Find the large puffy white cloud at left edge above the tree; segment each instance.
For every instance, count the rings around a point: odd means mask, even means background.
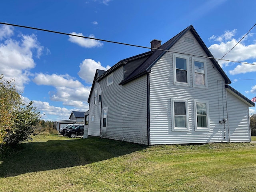
[[[44,47],[40,46],[34,34],[20,34],[19,40],[14,40],[10,38],[13,28],[2,27],[2,32],[4,33],[1,37],[6,40],[0,44],[0,74],[4,74],[7,79],[14,78],[17,88],[23,91],[24,84],[30,81],[29,70],[36,66],[33,51],[36,51],[36,56],[39,58]]]

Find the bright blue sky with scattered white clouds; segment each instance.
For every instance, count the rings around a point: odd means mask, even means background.
[[[213,56],[222,58],[256,23],[255,7],[255,0],[8,0],[0,2],[0,22],[145,47],[193,25]],[[87,111],[96,69],[147,51],[0,24],[0,74],[15,79],[44,120]],[[256,65],[256,26],[224,59]],[[230,86],[249,99],[256,96],[255,65],[218,63]]]

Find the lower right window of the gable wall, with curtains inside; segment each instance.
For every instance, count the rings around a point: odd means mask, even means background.
[[[208,131],[210,130],[209,110],[207,101],[194,101],[195,108],[195,130]]]

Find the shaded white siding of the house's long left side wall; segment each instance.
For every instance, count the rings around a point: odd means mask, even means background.
[[[123,67],[114,71],[114,83],[100,80],[102,108],[108,107],[107,128],[103,138],[148,144],[147,137],[147,77],[146,75],[123,86]]]

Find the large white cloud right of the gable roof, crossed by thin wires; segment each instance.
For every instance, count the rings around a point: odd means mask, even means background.
[[[231,50],[239,40],[234,39],[234,34],[236,30],[233,31],[226,31],[221,36],[212,36],[209,38],[209,40],[216,40],[216,41],[222,41],[220,44],[212,44],[209,47],[210,52],[214,55],[215,58],[222,58],[229,50]],[[232,51],[230,51],[224,59],[226,60],[233,60],[233,61],[245,61],[248,59],[255,59],[256,58],[256,42],[254,44],[246,45],[244,44],[244,41],[249,36],[252,36],[253,34],[248,34],[239,44],[237,44]],[[229,61],[223,61],[220,60],[218,63],[221,66],[228,65]],[[248,71],[251,70],[251,67],[249,65],[244,65],[246,68],[249,68]]]

